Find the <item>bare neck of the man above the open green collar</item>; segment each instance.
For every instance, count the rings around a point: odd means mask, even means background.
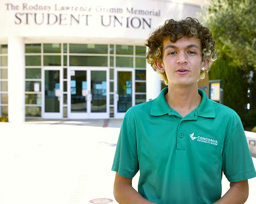
[[[168,86],[168,92],[165,95],[169,107],[177,111],[182,117],[195,110],[201,103],[201,99],[197,86],[191,88]]]

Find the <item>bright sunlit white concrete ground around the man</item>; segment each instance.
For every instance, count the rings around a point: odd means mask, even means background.
[[[0,203],[117,203],[111,167],[121,122],[0,123]],[[256,159],[253,161],[256,167]],[[136,175],[135,188],[137,183]],[[256,178],[249,184],[246,203],[252,204],[256,201]],[[223,179],[223,192],[226,189],[228,182]]]

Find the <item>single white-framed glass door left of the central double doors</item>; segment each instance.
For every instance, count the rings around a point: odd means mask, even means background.
[[[62,118],[62,68],[45,67],[43,75],[44,86],[42,87],[44,87],[44,92],[42,95],[44,99],[42,106],[42,118]]]

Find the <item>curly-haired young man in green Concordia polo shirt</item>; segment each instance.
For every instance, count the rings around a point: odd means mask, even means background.
[[[239,116],[198,89],[217,59],[197,19],[167,20],[146,42],[147,61],[168,85],[123,119],[112,170],[119,203],[244,203],[256,176]],[[138,192],[132,179],[140,171]],[[221,197],[222,172],[230,189]]]

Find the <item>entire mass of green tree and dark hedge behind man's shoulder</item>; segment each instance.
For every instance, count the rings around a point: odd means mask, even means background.
[[[202,18],[220,56],[209,79],[222,79],[224,104],[237,111],[245,125],[252,125],[256,121],[256,1],[211,0]],[[245,112],[247,103],[254,109],[249,114]]]

